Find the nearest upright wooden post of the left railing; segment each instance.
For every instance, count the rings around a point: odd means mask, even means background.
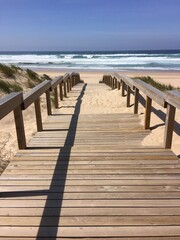
[[[21,106],[14,109],[14,120],[16,126],[17,140],[19,149],[26,148],[26,136],[24,131],[24,121]]]

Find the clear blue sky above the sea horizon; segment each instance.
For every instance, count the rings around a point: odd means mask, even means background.
[[[0,51],[180,49],[180,0],[0,0]]]

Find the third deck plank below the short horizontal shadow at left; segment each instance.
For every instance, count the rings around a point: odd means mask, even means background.
[[[179,226],[180,216],[61,216],[59,218],[58,226]],[[54,226],[56,217],[46,216],[43,219],[43,226]],[[27,217],[0,217],[0,226],[33,226],[38,227],[41,224],[41,217],[28,216]]]

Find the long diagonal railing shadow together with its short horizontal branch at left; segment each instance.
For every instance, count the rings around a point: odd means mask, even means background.
[[[78,118],[82,103],[82,97],[86,89],[84,85],[75,105],[74,114],[70,121],[70,127],[65,139],[64,146],[59,151],[57,162],[53,172],[50,187],[41,190],[24,190],[24,191],[11,191],[1,192],[0,197],[30,197],[30,196],[46,196],[44,210],[41,216],[41,221],[37,231],[36,239],[50,238],[56,239],[59,221],[61,217],[61,208],[63,203],[63,195],[65,191],[65,183],[68,172],[68,165],[70,160],[71,148],[74,145]],[[54,147],[53,147],[54,148]],[[36,200],[34,200],[36,201]],[[43,200],[42,200],[43,201]],[[52,217],[52,221],[48,221],[48,217]]]

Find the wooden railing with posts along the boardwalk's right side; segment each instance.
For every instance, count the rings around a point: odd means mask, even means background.
[[[164,133],[164,148],[171,148],[173,127],[175,121],[176,108],[180,109],[180,92],[172,90],[161,92],[157,88],[141,81],[140,79],[131,79],[117,73],[104,75],[103,83],[112,89],[122,90],[122,96],[127,98],[126,106],[130,107],[131,94],[134,95],[134,114],[138,113],[138,104],[140,102],[140,91],[146,96],[145,122],[144,128],[150,128],[152,101],[155,101],[163,108],[167,108]]]

